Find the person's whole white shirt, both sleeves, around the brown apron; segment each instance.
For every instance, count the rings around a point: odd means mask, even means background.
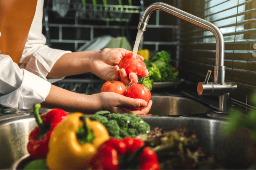
[[[4,107],[30,109],[45,100],[51,83],[63,78],[46,78],[54,63],[71,51],[45,45],[46,38],[42,34],[43,5],[44,0],[38,0],[20,63],[14,63],[8,55],[0,55],[0,104]]]

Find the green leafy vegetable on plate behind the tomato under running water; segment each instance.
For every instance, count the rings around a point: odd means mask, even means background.
[[[154,82],[176,82],[178,81],[178,71],[174,71],[170,64],[170,55],[166,51],[157,52],[150,61],[144,60],[149,75],[139,84],[144,84],[149,90],[152,90]]]

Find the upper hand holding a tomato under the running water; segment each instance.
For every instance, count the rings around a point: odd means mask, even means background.
[[[125,55],[131,52],[132,51],[128,51],[123,48],[103,49],[98,52],[96,58],[94,59],[94,61],[92,61],[92,64],[90,65],[90,70],[92,70],[92,72],[96,76],[106,81],[121,80],[126,85],[136,84],[138,83],[138,77],[134,72],[127,75],[124,68],[119,69],[118,67],[118,63],[120,62],[120,60]],[[141,61],[144,60],[142,56],[137,56],[141,59]],[[144,76],[142,77],[146,76],[148,76],[147,69],[144,71]]]

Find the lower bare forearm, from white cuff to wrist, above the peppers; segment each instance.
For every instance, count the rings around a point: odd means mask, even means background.
[[[54,85],[51,85],[50,92],[41,105],[48,109],[60,108],[68,112],[79,111],[84,114],[94,114],[101,109],[95,95],[78,94]]]

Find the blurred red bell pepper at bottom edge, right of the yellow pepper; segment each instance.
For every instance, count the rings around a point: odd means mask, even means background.
[[[98,148],[90,164],[93,170],[160,169],[155,152],[135,138],[109,139]]]

